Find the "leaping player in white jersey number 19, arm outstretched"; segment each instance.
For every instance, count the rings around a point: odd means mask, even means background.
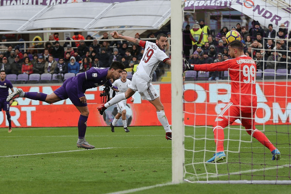
[[[137,67],[136,73],[133,74],[131,84],[127,91],[125,93],[116,95],[106,104],[98,107],[99,113],[103,115],[103,112],[108,107],[120,102],[121,100],[130,98],[136,91],[138,91],[143,100],[150,101],[150,103],[155,106],[158,120],[161,122],[166,131],[166,139],[172,140],[172,130],[170,129],[168,119],[164,112],[164,105],[161,103],[158,92],[155,90],[153,84],[151,83],[153,73],[161,61],[169,65],[171,64],[171,59],[163,51],[168,43],[167,36],[162,33],[158,34],[155,43],[153,43],[149,41],[135,39],[129,36],[122,36],[119,35],[116,31],[110,34],[115,39],[124,39],[130,42],[134,42],[137,45],[143,47],[144,54]]]

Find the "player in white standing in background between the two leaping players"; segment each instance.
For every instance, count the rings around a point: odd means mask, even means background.
[[[125,93],[126,90],[128,89],[128,86],[130,85],[131,81],[126,78],[127,77],[127,71],[123,70],[121,73],[121,78],[117,79],[113,82],[113,86],[118,87],[119,92],[116,92],[116,95]],[[112,98],[113,95],[113,90],[110,89],[110,99]],[[130,101],[134,101],[134,97],[130,99]],[[113,120],[113,122],[110,124],[111,131],[114,132],[114,127],[116,126],[116,123],[118,119],[121,117],[122,118],[122,124],[124,127],[125,132],[129,132],[127,128],[127,122],[126,122],[126,99],[121,100],[120,102],[117,103],[117,114]]]

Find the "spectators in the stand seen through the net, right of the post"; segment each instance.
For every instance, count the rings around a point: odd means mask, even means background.
[[[241,35],[244,53],[260,63],[260,69],[291,69],[291,31],[288,33],[284,24],[280,25],[278,32],[269,24],[264,30],[258,21],[252,22],[252,28],[241,27],[236,24],[230,30],[236,30]],[[230,31],[227,27],[218,30],[215,36],[210,34],[210,29],[200,19],[190,29],[187,25],[183,31],[183,51],[186,59],[191,64],[215,63],[229,58],[226,47],[226,34]],[[193,53],[190,50],[193,50]],[[196,76],[198,77],[198,73]],[[223,72],[210,72],[209,80],[223,79]]]

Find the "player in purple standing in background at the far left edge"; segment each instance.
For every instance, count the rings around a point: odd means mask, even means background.
[[[13,90],[13,86],[11,84],[11,82],[6,78],[6,73],[4,70],[0,71],[0,111],[3,109],[6,111],[6,115],[7,115],[7,120],[9,123],[9,129],[8,129],[8,133],[10,133],[12,131],[11,129],[11,116],[10,116],[10,112],[9,112],[9,101],[6,101],[5,98],[9,95],[9,88],[11,89],[12,92],[14,92]]]

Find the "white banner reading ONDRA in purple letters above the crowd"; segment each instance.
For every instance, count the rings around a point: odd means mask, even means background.
[[[290,27],[291,9],[284,4],[278,8],[264,0],[232,0],[230,7],[259,21],[261,26],[273,24],[276,28],[284,23],[285,27]]]

